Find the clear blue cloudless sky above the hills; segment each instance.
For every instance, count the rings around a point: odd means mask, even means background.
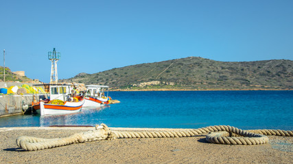
[[[0,1],[0,66],[49,82],[200,56],[217,61],[293,59],[293,1]]]

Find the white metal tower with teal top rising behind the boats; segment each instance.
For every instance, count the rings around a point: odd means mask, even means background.
[[[56,53],[54,48],[53,52],[48,52],[48,59],[51,61],[50,83],[58,83],[57,61],[60,59],[60,53]]]

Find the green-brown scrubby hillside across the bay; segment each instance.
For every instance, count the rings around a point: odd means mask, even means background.
[[[80,73],[60,81],[121,90],[292,90],[293,61],[224,62],[187,57]]]

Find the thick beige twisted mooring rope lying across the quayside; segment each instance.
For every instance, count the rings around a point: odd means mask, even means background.
[[[267,129],[243,131],[233,126],[208,126],[206,128],[197,128],[193,130],[174,131],[110,131],[108,126],[101,124],[101,126],[96,126],[95,131],[75,133],[74,135],[65,138],[42,139],[22,136],[16,139],[16,144],[24,150],[43,150],[58,146],[67,146],[72,143],[82,143],[102,139],[193,137],[203,133],[209,133],[206,140],[211,143],[233,145],[256,145],[268,143],[268,137],[266,135],[293,137],[293,131]]]

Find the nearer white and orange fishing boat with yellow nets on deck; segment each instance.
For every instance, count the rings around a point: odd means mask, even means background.
[[[47,97],[32,102],[32,107],[40,115],[54,115],[77,113],[84,105],[84,96],[76,96],[71,90],[71,85],[44,84],[48,92]],[[40,97],[40,96],[39,96]],[[34,97],[35,98],[35,97]]]

